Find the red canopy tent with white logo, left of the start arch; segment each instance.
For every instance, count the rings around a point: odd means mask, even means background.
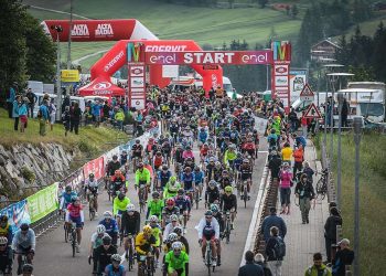
[[[86,86],[79,88],[81,96],[105,96],[105,97],[118,97],[125,96],[124,88],[106,81],[105,78],[97,77]]]

